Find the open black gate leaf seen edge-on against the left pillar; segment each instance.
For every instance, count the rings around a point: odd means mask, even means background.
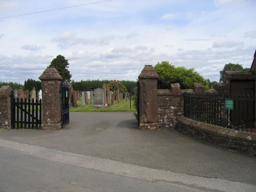
[[[61,82],[61,128],[69,124],[69,82]]]

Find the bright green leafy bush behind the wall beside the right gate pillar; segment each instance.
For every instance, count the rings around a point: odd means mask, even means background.
[[[181,89],[191,89],[195,82],[201,82],[206,89],[209,88],[209,81],[197,73],[194,68],[176,68],[169,61],[158,62],[154,68],[159,75],[158,89],[169,89],[170,83],[180,83]]]

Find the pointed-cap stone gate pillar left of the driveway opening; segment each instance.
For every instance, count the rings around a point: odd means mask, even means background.
[[[61,129],[60,86],[63,78],[54,67],[47,67],[39,77],[42,86],[41,130]]]

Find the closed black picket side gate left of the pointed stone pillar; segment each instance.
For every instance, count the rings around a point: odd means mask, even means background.
[[[14,97],[11,93],[11,128],[40,129],[42,120],[42,100]]]

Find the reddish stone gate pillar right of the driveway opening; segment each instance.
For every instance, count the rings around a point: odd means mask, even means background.
[[[139,129],[158,129],[157,79],[159,75],[152,66],[145,66],[139,75],[140,123]]]

